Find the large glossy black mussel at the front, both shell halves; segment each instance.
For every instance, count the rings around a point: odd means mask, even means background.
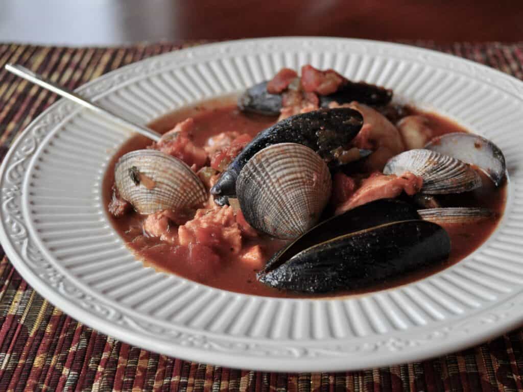
[[[439,263],[447,232],[419,219],[411,204],[373,201],[312,228],[276,253],[258,280],[303,293],[355,290]]]

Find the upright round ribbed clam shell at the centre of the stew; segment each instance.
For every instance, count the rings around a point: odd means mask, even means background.
[[[280,143],[256,153],[240,172],[236,194],[257,230],[292,239],[313,227],[331,197],[331,174],[309,147]]]

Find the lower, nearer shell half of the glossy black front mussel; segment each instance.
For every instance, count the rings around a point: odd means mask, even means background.
[[[302,293],[357,290],[430,268],[450,254],[450,237],[427,221],[372,227],[307,248],[258,279]]]

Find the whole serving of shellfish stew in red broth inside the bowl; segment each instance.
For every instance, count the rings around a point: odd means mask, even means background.
[[[266,296],[347,295],[458,262],[496,227],[492,141],[391,90],[284,68],[151,124],[109,165],[113,225],[146,264]]]

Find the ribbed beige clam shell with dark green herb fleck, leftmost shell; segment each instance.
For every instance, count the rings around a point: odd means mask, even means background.
[[[140,214],[193,207],[207,200],[206,188],[189,166],[154,149],[123,155],[115,167],[115,185]]]

